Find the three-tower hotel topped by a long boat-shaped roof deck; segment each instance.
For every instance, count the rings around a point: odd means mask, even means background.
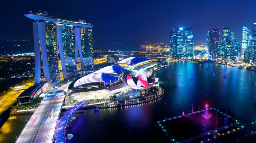
[[[60,80],[94,66],[92,24],[55,18],[46,11],[24,15],[35,20],[35,84],[46,81],[47,87],[55,87]]]

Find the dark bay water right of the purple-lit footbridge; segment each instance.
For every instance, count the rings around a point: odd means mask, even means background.
[[[70,122],[73,127],[66,130],[66,134],[73,133],[74,137],[67,142],[168,142],[156,123],[165,118],[164,103],[167,118],[171,118],[182,114],[183,100],[184,112],[191,112],[192,98],[194,111],[204,109],[208,102],[220,111],[227,109],[228,115],[232,113],[242,123],[256,121],[256,85],[252,85],[256,83],[256,73],[215,63],[167,64],[172,66],[155,73],[165,90],[163,97],[140,105],[102,109],[98,113],[93,109],[75,113],[76,119]]]

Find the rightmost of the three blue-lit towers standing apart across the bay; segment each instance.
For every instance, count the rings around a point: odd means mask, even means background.
[[[193,59],[194,58],[194,37],[192,28],[185,28],[185,46],[186,46],[186,58]]]

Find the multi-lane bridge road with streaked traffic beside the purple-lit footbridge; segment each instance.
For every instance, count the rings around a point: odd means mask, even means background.
[[[70,82],[71,83],[71,82]],[[17,143],[51,143],[53,142],[56,121],[65,99],[63,91],[68,90],[70,83],[57,89],[53,94],[47,94],[42,103],[33,113],[24,129],[21,131]]]

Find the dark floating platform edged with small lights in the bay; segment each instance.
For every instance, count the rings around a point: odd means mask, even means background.
[[[214,130],[214,122],[219,123],[218,130]],[[227,116],[229,126],[224,126],[226,114],[217,109],[210,108],[208,110],[196,111],[194,113],[184,114],[167,120],[158,121],[158,125],[162,128],[167,136],[173,142],[201,142],[214,141],[225,134],[232,134],[238,130],[243,130],[243,124]],[[203,126],[206,130],[203,130]],[[227,136],[227,135],[226,135]]]

